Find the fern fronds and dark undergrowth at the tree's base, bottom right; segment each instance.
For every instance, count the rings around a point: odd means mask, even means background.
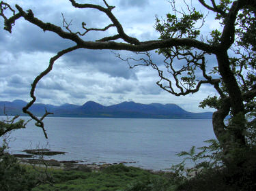
[[[180,152],[178,156],[186,156],[180,164],[173,165],[173,182],[176,190],[255,190],[256,179],[256,147],[233,147],[231,160],[223,153],[218,141],[205,141],[208,146],[195,146],[188,152]],[[235,158],[236,157],[236,158]],[[240,160],[237,160],[240,158]],[[185,169],[185,161],[192,160],[194,167]],[[241,162],[242,161],[242,162]],[[244,162],[246,161],[246,162]]]

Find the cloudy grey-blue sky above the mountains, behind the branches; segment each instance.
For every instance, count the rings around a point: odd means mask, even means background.
[[[44,22],[52,22],[62,26],[62,16],[68,22],[72,20],[73,31],[83,31],[81,22],[87,27],[105,27],[110,24],[109,18],[96,10],[79,10],[72,7],[68,0],[44,1],[6,1],[10,5],[18,3],[23,10],[33,10],[34,16]],[[102,0],[78,1],[103,5]],[[140,41],[158,39],[154,29],[156,16],[164,18],[171,12],[171,5],[165,0],[109,0],[115,5],[113,14],[121,22],[124,31],[137,37]],[[179,3],[182,1],[178,1]],[[197,0],[193,5],[208,14]],[[184,5],[182,5],[184,6]],[[179,7],[179,5],[177,5]],[[23,99],[30,101],[30,84],[46,67],[49,59],[64,48],[72,46],[72,42],[61,39],[54,33],[44,32],[29,22],[19,19],[12,33],[3,30],[3,19],[0,18],[0,101]],[[208,14],[203,33],[209,33],[220,26],[212,14]],[[100,37],[115,34],[115,29],[106,32],[90,32],[83,37],[94,41]],[[115,51],[114,51],[115,52]],[[132,52],[116,52],[124,58],[135,56]],[[162,57],[152,53],[154,62],[161,65]],[[216,62],[210,57],[208,63]],[[135,67],[128,64],[111,50],[76,50],[66,54],[55,62],[53,71],[46,75],[35,90],[37,103],[62,105],[72,103],[83,105],[87,101],[96,101],[102,105],[113,105],[123,101],[137,103],[175,103],[180,107],[194,112],[212,111],[201,109],[199,103],[216,95],[211,86],[202,86],[195,94],[175,97],[160,89],[156,82],[158,73],[151,67]]]

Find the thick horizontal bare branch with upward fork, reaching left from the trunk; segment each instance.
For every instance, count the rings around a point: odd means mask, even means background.
[[[70,0],[71,1],[71,0]],[[73,1],[72,1],[73,2]],[[103,7],[100,7],[98,5],[91,5],[91,4],[76,4],[77,7],[93,7],[97,8],[98,10],[104,9]],[[216,53],[219,51],[219,48],[216,46],[210,46],[208,44],[205,44],[201,41],[198,41],[196,39],[189,39],[189,38],[171,38],[171,39],[164,39],[164,40],[154,40],[154,41],[143,41],[139,42],[137,39],[134,40],[132,37],[126,37],[127,35],[124,35],[122,30],[118,31],[118,36],[115,35],[113,37],[106,37],[106,39],[100,39],[99,41],[83,41],[78,35],[75,33],[67,33],[61,29],[61,27],[56,26],[55,24],[51,23],[45,23],[42,22],[42,20],[39,20],[38,18],[35,18],[33,16],[33,12],[29,10],[29,12],[24,12],[23,9],[16,5],[17,10],[19,11],[19,17],[15,17],[16,19],[20,18],[20,16],[23,16],[25,20],[31,22],[32,24],[35,24],[36,26],[40,27],[43,31],[52,31],[53,33],[56,33],[63,39],[70,39],[71,41],[74,41],[76,44],[81,46],[81,48],[86,49],[109,49],[109,50],[130,50],[132,52],[145,52],[150,50],[155,50],[158,48],[169,48],[173,46],[190,46],[198,48],[199,50],[203,50],[205,52],[211,52]],[[107,14],[109,14],[109,10],[105,10]],[[111,12],[110,12],[111,13]],[[108,16],[112,16],[108,15]],[[12,22],[15,22],[14,18],[12,18]],[[117,20],[116,18],[112,18],[113,20]],[[118,27],[120,24],[113,23],[115,27]],[[11,29],[10,29],[11,30]],[[118,38],[124,39],[128,44],[126,43],[118,43],[114,41],[107,41],[107,40],[114,40]]]

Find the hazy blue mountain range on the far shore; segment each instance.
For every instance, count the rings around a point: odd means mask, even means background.
[[[8,116],[25,116],[22,108],[27,103],[22,100],[0,101],[0,115],[3,108]],[[133,101],[125,101],[116,105],[104,106],[94,101],[88,101],[83,105],[63,104],[60,106],[35,103],[29,109],[36,116],[42,116],[47,111],[53,112],[53,117],[76,118],[162,118],[162,119],[210,119],[211,112],[192,113],[175,104],[142,104]]]

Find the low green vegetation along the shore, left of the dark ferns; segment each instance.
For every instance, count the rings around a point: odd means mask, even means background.
[[[170,190],[168,173],[152,173],[116,164],[99,171],[64,171],[19,164],[10,154],[0,162],[0,190]]]

